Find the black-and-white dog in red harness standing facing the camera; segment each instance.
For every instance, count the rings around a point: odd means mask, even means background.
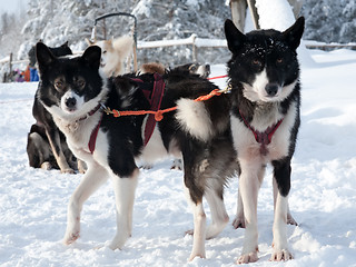
[[[274,168],[275,219],[270,260],[293,258],[287,244],[290,160],[300,123],[299,63],[296,49],[304,31],[299,18],[284,32],[241,33],[231,20],[225,34],[233,57],[228,61],[231,88],[231,129],[239,164],[235,227],[245,227],[238,264],[258,259],[257,196],[266,165]]]

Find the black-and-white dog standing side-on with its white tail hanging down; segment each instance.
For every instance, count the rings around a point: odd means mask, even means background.
[[[159,109],[177,109],[158,118],[161,120],[147,140],[146,126],[151,115],[119,115],[120,111],[151,109],[138,83],[152,80],[156,75],[107,79],[100,76],[100,58],[101,49],[97,46],[87,48],[80,57],[57,58],[46,44],[37,44],[41,78],[39,100],[66,135],[75,156],[88,165],[69,200],[63,243],[72,244],[79,238],[83,202],[111,178],[117,233],[109,247],[121,249],[132,233],[132,208],[139,176],[137,160],[174,155],[182,157],[184,188],[194,214],[194,244],[189,259],[205,257],[205,239],[217,236],[228,222],[222,194],[236,165],[227,116],[229,98],[221,95],[195,101],[218,88],[197,75],[167,72],[158,80],[166,85]],[[110,115],[113,109],[119,110],[119,117]],[[206,227],[202,197],[211,209],[209,227]]]

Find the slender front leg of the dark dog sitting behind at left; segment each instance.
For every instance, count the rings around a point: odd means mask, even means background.
[[[48,137],[49,144],[51,146],[53,156],[60,168],[60,171],[65,174],[75,174],[75,170],[70,168],[67,162],[66,156],[60,145],[60,137],[58,130],[46,128],[46,135]]]

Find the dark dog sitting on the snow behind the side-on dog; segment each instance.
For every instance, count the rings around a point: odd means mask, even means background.
[[[49,49],[57,57],[72,55],[68,41],[60,47]],[[36,58],[33,59],[33,65],[34,63]],[[31,126],[27,141],[27,155],[30,167],[46,170],[60,169],[60,171],[65,174],[75,174],[76,169],[78,169],[79,172],[85,172],[85,164],[77,161],[66,144],[66,137],[56,126],[52,116],[38,99],[38,93],[39,90],[37,89],[32,106],[32,115],[36,123]]]

